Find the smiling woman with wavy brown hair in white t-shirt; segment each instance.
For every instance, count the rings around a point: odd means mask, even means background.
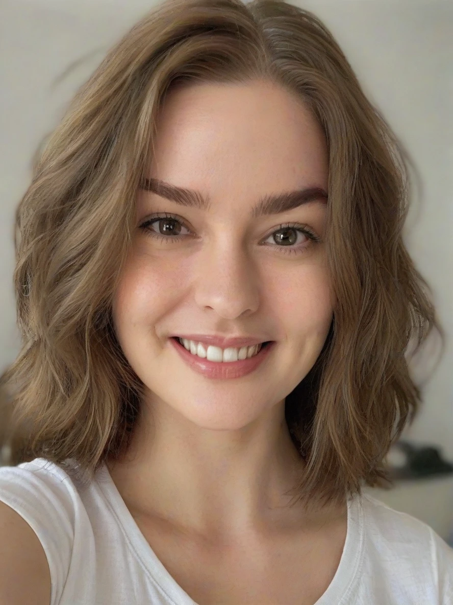
[[[419,405],[408,345],[442,332],[406,211],[315,16],[135,25],[18,209],[0,603],[451,603],[453,551],[362,493]]]

